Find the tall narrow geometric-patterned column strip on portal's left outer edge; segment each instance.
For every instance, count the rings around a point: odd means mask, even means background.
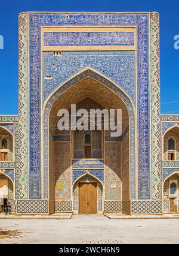
[[[18,198],[27,198],[27,91],[29,86],[27,79],[27,67],[28,67],[28,35],[27,35],[27,14],[20,14],[18,19],[18,113],[19,113],[19,191]]]

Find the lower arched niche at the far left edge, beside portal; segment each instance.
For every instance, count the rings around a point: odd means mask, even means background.
[[[7,201],[10,203],[9,200],[13,200],[13,198],[13,181],[4,173],[0,173],[0,212],[4,212],[5,204],[7,203]]]

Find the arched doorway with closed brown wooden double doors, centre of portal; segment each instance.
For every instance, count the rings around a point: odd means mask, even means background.
[[[103,212],[103,185],[95,177],[85,174],[73,184],[73,213]]]

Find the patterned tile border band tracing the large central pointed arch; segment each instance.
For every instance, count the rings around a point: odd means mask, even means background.
[[[48,199],[49,192],[49,123],[50,123],[50,112],[51,109],[57,101],[68,89],[72,88],[78,84],[78,82],[84,80],[85,78],[90,77],[91,79],[97,81],[101,86],[109,89],[109,91],[115,94],[119,99],[124,103],[126,110],[129,116],[129,176],[130,176],[130,186],[129,186],[129,196],[131,199],[136,198],[136,167],[137,167],[137,158],[135,158],[137,152],[137,117],[135,115],[135,107],[132,103],[131,98],[124,92],[122,88],[112,82],[110,79],[105,77],[103,74],[98,71],[92,70],[92,68],[85,68],[74,76],[70,77],[69,80],[62,83],[58,86],[57,89],[47,98],[44,103],[43,111],[42,111],[42,154],[41,154],[41,162],[42,162],[42,179],[44,183],[42,185],[42,194],[44,195],[44,199]]]

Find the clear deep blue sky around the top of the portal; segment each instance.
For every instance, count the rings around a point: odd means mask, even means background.
[[[161,29],[161,113],[179,114],[179,1],[31,0],[0,2],[0,115],[18,113],[18,13],[22,11],[158,11]]]

